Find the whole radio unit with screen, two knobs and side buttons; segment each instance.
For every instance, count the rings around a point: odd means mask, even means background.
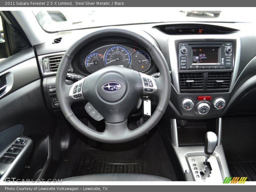
[[[180,42],[179,69],[232,69],[232,42]]]

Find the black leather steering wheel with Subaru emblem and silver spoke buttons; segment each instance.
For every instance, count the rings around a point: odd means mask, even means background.
[[[156,63],[160,76],[152,76],[138,71],[109,66],[102,68],[72,85],[66,84],[66,75],[75,54],[85,45],[102,37],[125,37],[138,42],[147,49]],[[153,87],[145,86],[151,81]],[[113,84],[111,84],[113,83]],[[111,90],[108,85],[116,86]],[[147,85],[147,84],[146,84]],[[81,94],[73,94],[81,87]],[[163,116],[171,95],[171,77],[167,62],[159,50],[156,41],[146,32],[134,32],[124,29],[104,29],[82,37],[63,55],[56,76],[56,94],[60,109],[68,122],[85,136],[106,143],[121,143],[134,140],[151,130]],[[135,130],[127,127],[127,118],[141,97],[155,95],[158,105],[152,116]],[[89,101],[104,117],[105,131],[97,132],[83,124],[73,113],[71,104],[77,101]]]

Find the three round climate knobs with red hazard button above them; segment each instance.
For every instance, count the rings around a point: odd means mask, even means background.
[[[194,110],[191,110],[196,105]],[[222,97],[212,99],[212,96],[197,96],[197,100],[194,101],[192,98],[185,98],[181,102],[181,108],[190,113],[196,113],[199,115],[206,115],[210,110],[220,110],[226,105],[226,100]],[[192,115],[192,114],[191,114]]]

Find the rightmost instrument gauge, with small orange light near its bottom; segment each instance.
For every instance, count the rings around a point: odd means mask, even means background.
[[[146,71],[150,66],[150,57],[144,51],[136,51],[132,53],[131,68],[133,70],[142,72]]]

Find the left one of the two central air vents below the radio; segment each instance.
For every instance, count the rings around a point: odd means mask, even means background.
[[[180,89],[204,89],[204,73],[180,73]]]

